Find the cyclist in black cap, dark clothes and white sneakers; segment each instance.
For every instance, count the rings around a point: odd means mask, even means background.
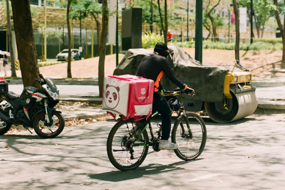
[[[159,82],[163,73],[167,78],[179,88],[183,89],[186,94],[194,96],[194,90],[189,88],[186,84],[182,83],[173,73],[168,61],[167,56],[172,51],[166,44],[159,42],[154,47],[154,52],[145,56],[137,69],[137,76],[151,79],[154,81],[154,94],[153,94],[153,107],[152,112],[158,112],[162,117],[162,137],[159,142],[158,148],[160,150],[174,150],[178,148],[178,144],[168,141],[171,129],[171,115],[172,110],[167,103],[167,100],[159,93],[164,91],[161,83]]]

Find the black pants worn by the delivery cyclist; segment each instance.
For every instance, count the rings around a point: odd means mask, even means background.
[[[162,140],[167,140],[170,136],[172,110],[167,100],[159,93],[153,94],[152,113],[158,112],[162,118]]]

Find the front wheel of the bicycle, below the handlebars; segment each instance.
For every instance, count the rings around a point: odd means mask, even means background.
[[[172,129],[171,140],[179,146],[174,150],[175,154],[182,160],[190,161],[196,159],[204,150],[207,131],[203,119],[195,113],[187,113],[189,126],[183,115],[180,115]]]

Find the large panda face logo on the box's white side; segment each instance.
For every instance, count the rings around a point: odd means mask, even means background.
[[[120,96],[119,96],[120,88],[117,86],[110,86],[106,85],[106,92],[105,92],[105,104],[110,109],[114,109],[117,107]]]

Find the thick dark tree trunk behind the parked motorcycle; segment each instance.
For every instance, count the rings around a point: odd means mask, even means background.
[[[34,42],[30,1],[11,0],[16,43],[24,87],[40,88],[37,50]]]

